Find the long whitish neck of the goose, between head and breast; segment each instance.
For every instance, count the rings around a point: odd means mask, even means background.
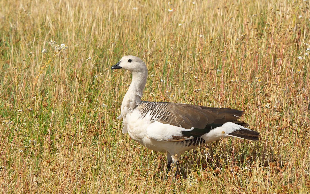
[[[122,115],[124,117],[141,102],[147,76],[146,67],[141,72],[132,72],[132,82],[122,102]]]

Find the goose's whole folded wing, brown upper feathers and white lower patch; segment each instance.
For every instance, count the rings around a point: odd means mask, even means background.
[[[147,137],[159,141],[183,141],[197,138],[211,129],[238,121],[243,111],[167,102],[144,102],[136,108],[143,119],[153,121],[147,128]]]

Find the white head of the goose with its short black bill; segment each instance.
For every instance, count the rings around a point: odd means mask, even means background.
[[[123,56],[115,65],[111,67],[111,70],[114,69],[125,69],[131,73],[140,73],[147,72],[145,63],[136,56]]]

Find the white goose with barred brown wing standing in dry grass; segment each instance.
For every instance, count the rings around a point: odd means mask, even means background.
[[[231,108],[215,108],[170,102],[141,101],[148,70],[136,56],[123,56],[111,70],[124,69],[132,82],[123,98],[122,133],[153,151],[167,154],[168,170],[177,166],[184,151],[223,138],[259,140],[259,132],[246,128],[238,119],[244,113]]]

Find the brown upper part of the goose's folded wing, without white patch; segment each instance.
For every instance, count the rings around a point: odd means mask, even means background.
[[[234,121],[234,123],[247,126],[247,124],[237,121],[243,111],[231,108],[214,108],[168,102],[145,102],[139,105],[137,109],[143,114],[142,117],[149,113],[152,116],[151,119],[184,129],[191,129],[192,127],[205,129],[208,124],[222,125]]]

